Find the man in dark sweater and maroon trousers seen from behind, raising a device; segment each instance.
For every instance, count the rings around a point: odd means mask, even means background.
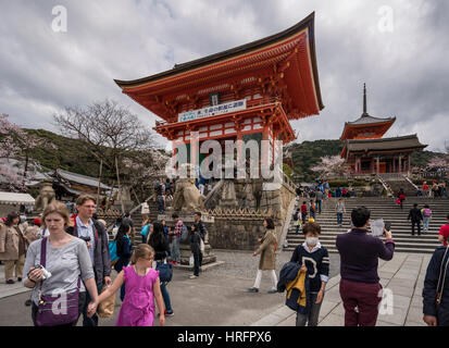
[[[370,210],[353,209],[353,228],[337,236],[340,253],[340,296],[345,308],[345,326],[375,326],[382,285],[377,274],[378,258],[389,261],[395,252],[391,232],[384,228],[385,243],[370,236]]]

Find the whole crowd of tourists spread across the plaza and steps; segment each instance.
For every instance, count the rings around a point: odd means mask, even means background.
[[[167,197],[173,199],[174,190],[174,182],[154,185],[159,213],[165,212]],[[271,217],[264,219],[263,234],[253,252],[254,257],[260,256],[259,268],[248,291],[260,291],[263,272],[267,271],[272,279],[267,293],[286,291],[286,304],[297,312],[297,325],[315,326],[329,276],[329,256],[320,243],[321,226],[315,217],[322,212],[322,201],[332,192],[326,182],[319,182],[312,188],[299,188],[297,194],[301,201],[292,219],[296,233],[302,231],[304,243],[295,248],[277,278],[275,226]],[[339,197],[335,206],[339,226],[346,213],[342,197],[347,195],[347,190],[341,190],[336,196]],[[198,278],[208,231],[200,212],[189,217],[191,224],[183,222],[175,212],[171,216],[173,225],[167,226],[164,220],[150,219],[150,207],[154,207],[151,200],[141,203],[141,244],[136,247],[132,240],[135,223],[130,213],[117,219],[112,228],[113,240],[110,241],[105,222],[96,216],[95,199],[88,195],[79,196],[74,207],[53,201],[45,208],[40,219],[30,223],[18,213],[10,213],[2,221],[0,260],[4,262],[5,282],[13,284],[16,278],[33,289],[27,304],[32,307],[35,325],[73,326],[83,316],[84,326],[97,326],[98,313],[104,313],[107,303],[119,290],[122,306],[116,325],[153,325],[157,316],[154,301],[161,325],[164,325],[166,316],[174,315],[169,291],[173,265],[190,264],[194,269],[190,278]],[[424,222],[424,231],[428,231],[432,213],[428,204],[422,209],[414,204],[409,212],[412,234],[416,226],[420,235],[421,221]],[[391,260],[395,252],[391,231],[384,229],[385,241],[372,236],[367,228],[370,217],[369,209],[353,209],[351,229],[339,234],[336,240],[340,254],[339,291],[345,308],[345,325],[348,326],[375,325],[382,300],[378,259]],[[439,233],[444,246],[435,251],[424,282],[423,320],[428,325],[449,325],[448,238],[449,215]],[[189,246],[189,253],[183,253],[183,258],[182,245]],[[116,273],[113,282],[112,270]],[[55,294],[61,291],[71,306],[65,314],[55,315],[49,309],[60,300]]]

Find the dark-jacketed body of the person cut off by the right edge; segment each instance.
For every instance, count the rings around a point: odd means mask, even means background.
[[[448,247],[439,247],[435,250],[431,262],[428,262],[425,274],[423,288],[423,320],[428,326],[449,326],[449,252],[447,252],[447,250]],[[439,278],[440,282],[438,287]],[[436,308],[437,293],[441,293],[438,311]]]

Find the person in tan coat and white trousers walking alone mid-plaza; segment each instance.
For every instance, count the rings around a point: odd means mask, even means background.
[[[254,285],[248,288],[250,293],[259,293],[260,282],[262,279],[262,271],[270,271],[273,287],[267,293],[277,293],[277,276],[276,276],[276,233],[274,229],[274,222],[271,217],[263,221],[263,226],[266,228],[263,238],[259,239],[261,246],[253,252],[253,256],[260,256],[259,270],[255,276]]]

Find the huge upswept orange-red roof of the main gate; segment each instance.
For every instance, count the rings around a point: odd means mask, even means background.
[[[314,12],[278,34],[238,46],[219,53],[175,64],[172,70],[151,76],[114,82],[123,92],[138,103],[162,116],[164,96],[199,89],[234,76],[250,77],[253,72],[274,64],[286,63],[285,80],[289,86],[294,104],[302,116],[317,114],[324,108],[316,64],[314,40]],[[301,69],[298,62],[303,65]],[[308,72],[310,71],[310,73]],[[300,99],[302,98],[302,99]],[[304,100],[307,100],[304,104]],[[301,104],[302,101],[302,104]],[[297,117],[295,117],[297,119]]]

